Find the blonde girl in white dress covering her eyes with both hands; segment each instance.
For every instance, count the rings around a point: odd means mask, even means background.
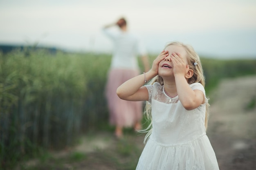
[[[117,95],[151,104],[146,113],[152,121],[136,170],[219,170],[206,135],[203,70],[191,46],[167,44],[150,71],[119,86]]]

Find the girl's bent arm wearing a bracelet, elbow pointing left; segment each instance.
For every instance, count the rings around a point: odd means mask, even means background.
[[[168,51],[162,51],[157,58],[153,61],[152,68],[144,74],[138,75],[124,82],[121,86],[117,88],[117,95],[124,100],[129,101],[146,101],[148,100],[148,90],[143,85],[146,80],[149,81],[156,75],[158,75],[158,65],[159,62],[164,60],[168,55]]]

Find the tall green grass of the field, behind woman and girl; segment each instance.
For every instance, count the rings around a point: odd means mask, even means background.
[[[81,132],[107,124],[110,60],[43,50],[0,54],[0,169],[71,146]],[[207,91],[224,77],[256,74],[256,60],[203,58],[202,65]]]

